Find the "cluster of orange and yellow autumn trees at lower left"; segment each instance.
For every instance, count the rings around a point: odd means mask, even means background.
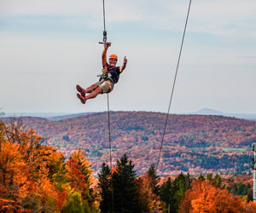
[[[94,212],[98,204],[84,152],[65,162],[61,152],[41,141],[35,130],[1,124],[0,212],[65,212],[74,195],[83,212]]]

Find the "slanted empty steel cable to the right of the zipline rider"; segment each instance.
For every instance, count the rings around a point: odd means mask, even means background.
[[[165,124],[164,132],[163,132],[163,135],[162,135],[162,138],[161,138],[160,152],[159,152],[159,155],[158,155],[158,158],[157,158],[157,164],[156,164],[156,167],[155,167],[155,171],[156,172],[157,172],[158,165],[159,165],[159,162],[160,162],[160,154],[162,152],[162,147],[163,147],[163,143],[164,143],[164,140],[165,140],[166,126],[167,126],[167,122],[168,122],[168,118],[169,118],[169,113],[170,113],[170,109],[171,109],[171,105],[172,105],[172,96],[173,96],[173,92],[174,92],[174,89],[175,89],[175,83],[176,83],[176,79],[177,79],[177,71],[178,71],[179,61],[180,61],[182,50],[183,50],[183,42],[184,42],[184,37],[185,37],[185,33],[186,33],[186,29],[187,29],[187,24],[188,24],[188,20],[189,20],[190,6],[191,6],[191,0],[189,0],[189,9],[188,9],[188,13],[187,13],[185,27],[184,27],[184,30],[183,30],[183,39],[182,39],[182,43],[181,43],[180,50],[179,50],[175,77],[174,77],[174,81],[173,81],[173,84],[172,84],[172,94],[171,94],[171,98],[170,98],[170,102],[169,102],[168,112],[167,112],[167,115],[166,115],[166,124]]]

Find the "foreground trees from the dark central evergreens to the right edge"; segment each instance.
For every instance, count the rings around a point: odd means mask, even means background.
[[[191,178],[182,173],[160,183],[154,165],[139,177],[133,168],[126,155],[113,170],[102,164],[98,185],[102,212],[256,212],[248,194],[252,193],[250,184],[234,183],[228,191],[218,174]],[[237,186],[243,190],[235,193]]]

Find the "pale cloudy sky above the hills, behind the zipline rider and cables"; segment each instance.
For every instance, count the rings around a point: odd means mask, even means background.
[[[108,54],[127,68],[110,108],[166,112],[189,0],[106,0]],[[256,1],[192,0],[171,112],[256,113]],[[101,72],[102,0],[0,0],[4,112],[98,112],[75,85]]]

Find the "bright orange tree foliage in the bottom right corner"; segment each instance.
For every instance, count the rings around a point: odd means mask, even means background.
[[[185,193],[178,212],[256,212],[256,204],[253,202],[247,204],[243,199],[234,196],[227,190],[212,186],[212,183],[208,180],[195,180],[191,189]]]

